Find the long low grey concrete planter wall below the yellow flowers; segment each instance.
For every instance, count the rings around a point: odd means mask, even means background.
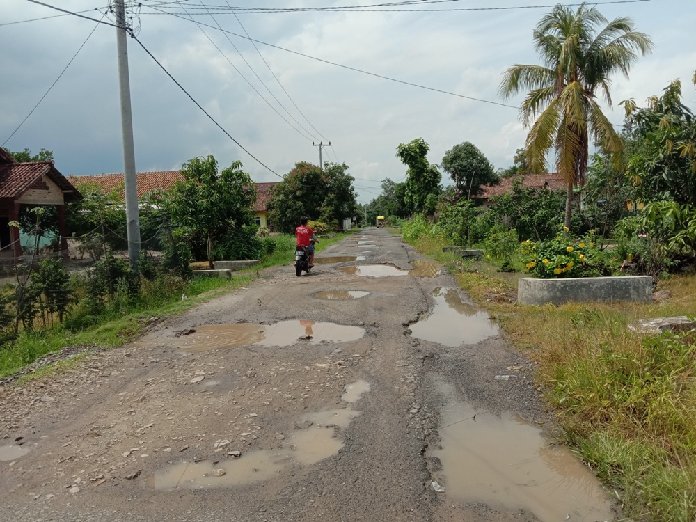
[[[517,302],[530,305],[553,303],[560,305],[571,301],[652,301],[650,276],[578,277],[567,279],[537,279],[523,277],[517,284]]]

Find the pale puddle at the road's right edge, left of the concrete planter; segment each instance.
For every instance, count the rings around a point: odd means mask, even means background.
[[[498,335],[498,325],[489,319],[488,313],[463,303],[457,290],[437,288],[431,295],[435,306],[430,315],[409,326],[413,337],[456,347]]]

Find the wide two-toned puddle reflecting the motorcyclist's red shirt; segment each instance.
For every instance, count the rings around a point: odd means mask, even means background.
[[[255,323],[206,324],[193,333],[175,339],[177,348],[191,353],[239,346],[292,346],[299,340],[316,345],[319,342],[358,340],[365,330],[358,326],[315,321],[280,321],[264,326]]]

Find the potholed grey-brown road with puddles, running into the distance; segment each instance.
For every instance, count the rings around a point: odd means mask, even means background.
[[[540,438],[534,363],[451,276],[409,274],[422,256],[384,229],[332,256],[0,388],[0,520],[609,519]]]

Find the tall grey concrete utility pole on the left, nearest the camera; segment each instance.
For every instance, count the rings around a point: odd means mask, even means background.
[[[135,177],[135,150],[133,145],[133,117],[130,104],[128,76],[128,44],[126,41],[126,13],[123,0],[114,0],[116,14],[116,53],[118,54],[118,85],[121,98],[121,134],[123,136],[123,180],[125,182],[128,259],[131,267],[138,268],[140,258],[140,219],[138,217],[138,186]]]

